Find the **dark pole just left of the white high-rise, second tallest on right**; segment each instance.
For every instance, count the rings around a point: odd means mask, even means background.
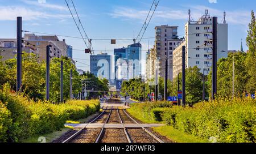
[[[185,91],[185,46],[182,46],[182,105],[185,107],[186,103],[186,91]]]

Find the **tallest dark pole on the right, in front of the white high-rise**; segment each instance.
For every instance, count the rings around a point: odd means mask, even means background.
[[[213,17],[213,57],[212,57],[212,100],[217,95],[217,32],[218,18]]]

